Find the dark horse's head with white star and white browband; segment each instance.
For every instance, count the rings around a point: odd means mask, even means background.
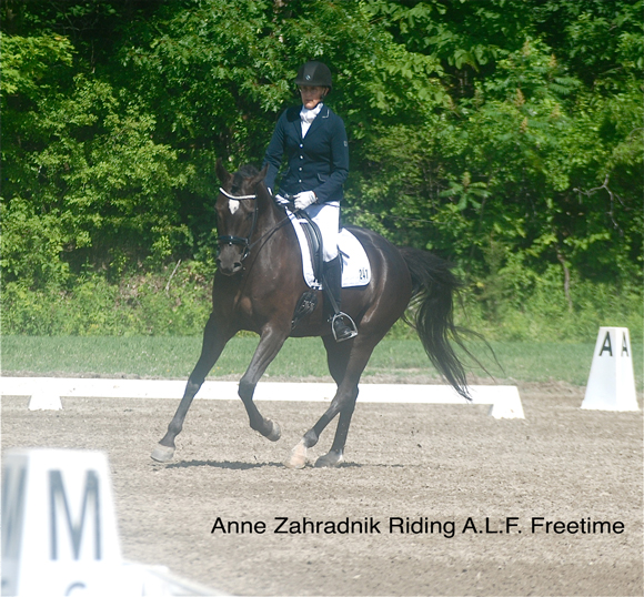
[[[220,159],[217,161],[217,175],[221,182],[215,204],[219,227],[217,264],[224,275],[240,272],[249,254],[258,222],[255,188],[264,180],[266,169],[259,172],[252,165],[244,165],[231,174]]]

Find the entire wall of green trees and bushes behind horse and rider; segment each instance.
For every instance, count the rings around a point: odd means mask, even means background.
[[[192,330],[209,282],[184,316],[153,281],[212,267],[215,159],[259,164],[320,59],[350,139],[345,222],[454,261],[493,336],[637,326],[642,7],[3,0],[3,325]]]

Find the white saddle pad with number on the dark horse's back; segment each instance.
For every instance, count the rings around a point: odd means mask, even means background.
[[[293,230],[300,242],[304,281],[311,289],[321,290],[322,284],[313,274],[311,250],[309,249],[305,232],[302,230],[300,220],[289,210],[286,210],[286,213],[293,223]],[[338,249],[342,255],[342,287],[366,286],[371,282],[371,265],[366,251],[364,251],[360,241],[346,229],[342,229],[338,237]]]

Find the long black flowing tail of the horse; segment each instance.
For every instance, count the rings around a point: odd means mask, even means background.
[[[413,293],[410,306],[415,307],[412,321],[403,320],[419,334],[427,356],[454,389],[472,399],[463,363],[452,347],[455,342],[467,355],[460,332],[454,325],[453,297],[462,283],[450,271],[451,264],[426,251],[400,249],[412,275]],[[471,356],[471,355],[470,355]]]

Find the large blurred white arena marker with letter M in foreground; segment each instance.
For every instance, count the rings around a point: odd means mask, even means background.
[[[8,451],[2,595],[135,595],[122,568],[107,456]]]

